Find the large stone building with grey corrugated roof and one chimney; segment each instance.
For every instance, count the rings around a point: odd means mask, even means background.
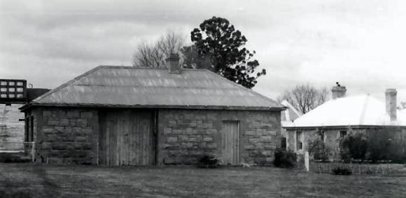
[[[93,165],[266,165],[279,146],[278,102],[209,70],[99,66],[22,107],[36,160]]]

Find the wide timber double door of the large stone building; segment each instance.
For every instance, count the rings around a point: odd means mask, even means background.
[[[155,135],[153,112],[105,112],[100,119],[99,163],[153,165]]]

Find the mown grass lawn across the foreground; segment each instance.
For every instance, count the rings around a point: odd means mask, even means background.
[[[0,163],[0,197],[406,197],[406,173]]]

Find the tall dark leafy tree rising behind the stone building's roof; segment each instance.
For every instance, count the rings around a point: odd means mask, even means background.
[[[251,89],[257,83],[256,79],[266,74],[265,69],[255,74],[255,69],[260,65],[253,59],[255,51],[244,47],[246,37],[225,18],[204,20],[199,28],[191,32],[191,40],[197,55],[202,60],[210,60],[208,69],[232,82]]]

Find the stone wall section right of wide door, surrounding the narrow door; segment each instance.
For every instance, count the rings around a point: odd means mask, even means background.
[[[160,109],[158,164],[196,164],[204,154],[221,160],[223,121],[239,121],[239,162],[268,165],[280,144],[280,112]]]

